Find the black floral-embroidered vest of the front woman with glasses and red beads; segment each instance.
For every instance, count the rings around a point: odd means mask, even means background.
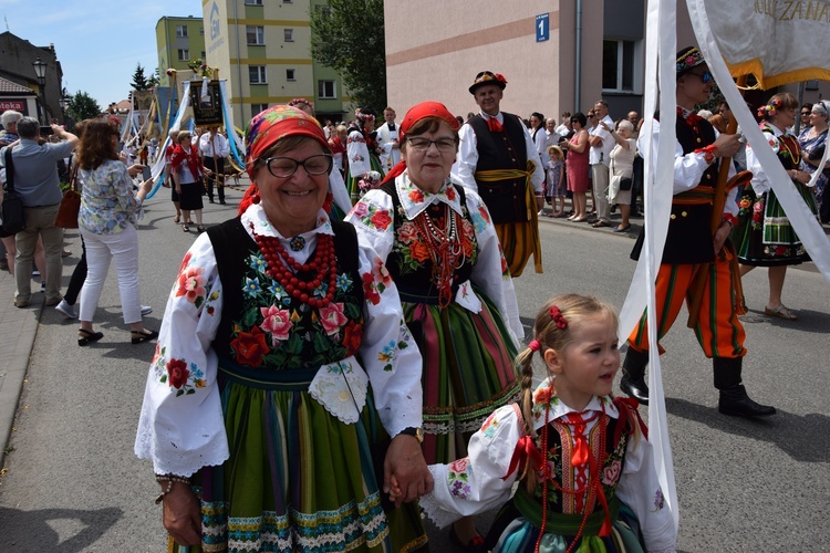
[[[357,234],[332,221],[338,264],[336,292],[326,307],[312,309],[288,294],[264,271],[264,258],[239,218],[208,229],[222,283],[222,313],[214,351],[221,366],[258,371],[314,369],[354,355],[363,337],[363,284]],[[324,295],[322,288],[318,295]],[[262,310],[279,310],[281,325],[268,324]],[[344,323],[329,327],[326,310],[342,311]],[[326,322],[329,319],[326,319]]]

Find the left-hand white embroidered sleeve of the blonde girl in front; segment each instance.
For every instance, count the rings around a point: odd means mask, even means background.
[[[501,407],[473,435],[468,457],[449,465],[430,465],[435,486],[419,499],[426,515],[444,528],[507,501],[519,474],[518,470],[510,472],[510,461],[522,434],[518,407]]]

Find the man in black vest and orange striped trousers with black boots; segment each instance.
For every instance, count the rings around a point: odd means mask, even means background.
[[[726,198],[720,226],[714,237],[709,230],[719,158],[732,157],[740,147],[740,142],[738,135],[717,135],[706,119],[695,114],[695,105],[708,100],[715,84],[703,54],[692,46],[681,50],[676,70],[674,197],[655,291],[658,338],[671,328],[684,300],[691,307],[696,276],[705,271],[702,278],[706,282],[695,334],[706,357],[712,358],[715,387],[720,396],[718,410],[737,417],[775,415],[774,407],[759,405],[749,398],[740,378],[741,362],[746,355],[746,333],[738,315],[746,311],[743,307],[735,249],[728,241],[737,213],[735,189]],[[666,124],[674,121],[673,115],[663,117]],[[655,121],[653,136],[640,137],[640,152],[647,152],[645,140],[649,139],[654,142],[656,152],[658,135],[660,125]],[[642,243],[641,232],[632,258],[639,257]],[[649,403],[644,377],[647,362],[649,336],[644,313],[629,336],[629,353],[620,382],[625,394],[644,405]]]

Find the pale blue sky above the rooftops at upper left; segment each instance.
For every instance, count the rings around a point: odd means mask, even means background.
[[[127,98],[136,64],[153,75],[158,20],[201,18],[201,0],[0,0],[0,32],[35,46],[54,43],[63,86],[86,92],[104,108]]]

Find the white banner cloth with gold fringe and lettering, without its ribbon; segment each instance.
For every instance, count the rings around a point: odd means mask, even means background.
[[[689,12],[693,3],[707,14],[733,76],[753,74],[765,90],[811,79],[830,81],[830,1],[696,0],[688,2]],[[699,23],[692,21],[696,35]],[[703,45],[699,35],[697,40]]]

